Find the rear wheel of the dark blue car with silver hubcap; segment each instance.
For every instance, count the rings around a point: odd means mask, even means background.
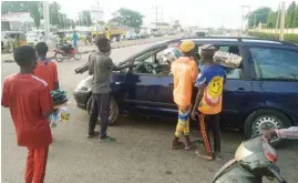
[[[260,135],[266,130],[271,129],[286,129],[291,126],[290,120],[281,112],[276,110],[258,110],[254,111],[245,121],[245,135],[251,138]],[[281,142],[280,139],[273,139],[271,144],[274,146]]]

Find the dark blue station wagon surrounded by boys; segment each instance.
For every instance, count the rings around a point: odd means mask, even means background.
[[[137,67],[114,72],[111,77],[113,91],[110,124],[114,124],[123,111],[162,118],[177,116],[169,65],[160,62],[158,57],[169,44],[178,44],[183,40],[160,42],[120,63],[136,63]],[[214,44],[219,50],[243,58],[242,65],[227,74],[220,121],[223,125],[243,128],[246,136],[268,129],[298,125],[297,45],[246,38],[192,40],[196,47]],[[199,54],[197,57],[199,59]],[[86,67],[81,69],[85,70]],[[91,85],[92,75],[89,75],[74,90],[78,106],[86,111],[92,108]]]

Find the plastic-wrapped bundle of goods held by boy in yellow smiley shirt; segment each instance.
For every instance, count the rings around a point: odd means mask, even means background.
[[[224,52],[224,51],[216,51],[213,59],[217,64],[220,64],[227,68],[239,68],[243,60],[240,55]]]

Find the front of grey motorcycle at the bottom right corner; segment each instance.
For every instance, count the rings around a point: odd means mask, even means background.
[[[287,183],[275,164],[277,153],[263,136],[244,141],[235,153],[215,175],[213,183],[261,183],[263,176]]]

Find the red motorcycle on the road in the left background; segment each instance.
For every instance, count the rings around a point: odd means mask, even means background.
[[[81,53],[78,52],[71,44],[63,42],[54,50],[54,58],[58,62],[62,62],[64,59],[81,59]]]

